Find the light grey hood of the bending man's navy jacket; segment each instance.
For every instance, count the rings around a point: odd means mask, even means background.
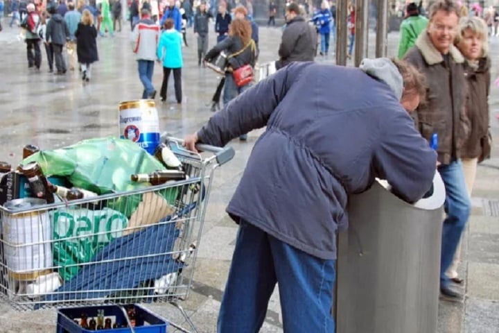
[[[402,98],[403,79],[399,69],[388,58],[364,59],[359,66],[366,74],[386,83],[399,101]]]

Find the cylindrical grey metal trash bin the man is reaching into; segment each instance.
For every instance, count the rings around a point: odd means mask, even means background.
[[[338,240],[338,333],[437,331],[444,183],[414,205],[375,182],[349,198]]]

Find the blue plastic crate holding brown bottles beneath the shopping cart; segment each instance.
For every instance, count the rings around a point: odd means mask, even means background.
[[[125,309],[128,309],[131,305],[125,305]],[[153,314],[152,312],[140,307],[139,305],[133,305],[135,307],[135,327],[134,330],[137,333],[166,333],[166,328],[168,327],[168,321],[163,318]],[[57,333],[94,333],[94,332],[116,332],[116,333],[128,333],[132,332],[130,328],[113,328],[111,330],[87,330],[80,327],[80,325],[74,322],[75,318],[81,317],[81,314],[85,313],[89,318],[97,317],[97,310],[103,309],[104,316],[114,316],[118,323],[127,323],[123,311],[116,305],[99,305],[92,307],[68,307],[64,309],[58,309],[58,324]],[[145,324],[145,325],[144,325]]]

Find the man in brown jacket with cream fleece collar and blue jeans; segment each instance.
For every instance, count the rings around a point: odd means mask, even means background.
[[[462,146],[468,133],[465,113],[468,90],[464,58],[453,45],[459,8],[452,0],[439,0],[430,8],[428,28],[419,35],[405,59],[416,66],[428,84],[428,101],[420,105],[415,118],[421,135],[438,135],[439,173],[446,188],[444,227],[441,243],[440,291],[457,300],[461,295],[446,275],[471,210],[462,167]]]

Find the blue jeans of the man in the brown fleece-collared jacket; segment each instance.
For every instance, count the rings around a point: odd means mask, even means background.
[[[438,168],[446,189],[445,211],[447,214],[442,229],[440,287],[447,287],[447,268],[453,261],[461,234],[468,221],[471,203],[464,182],[464,171],[460,160],[441,165]]]

